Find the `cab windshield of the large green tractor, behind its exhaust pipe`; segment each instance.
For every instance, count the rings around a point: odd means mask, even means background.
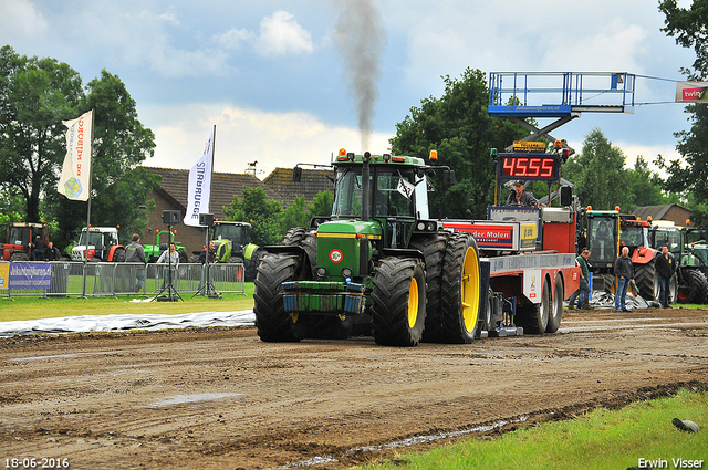
[[[414,217],[415,176],[412,168],[372,167],[373,217]],[[337,170],[336,198],[333,216],[361,217],[362,168]]]

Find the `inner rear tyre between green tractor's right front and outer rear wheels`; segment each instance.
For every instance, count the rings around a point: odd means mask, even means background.
[[[414,237],[410,248],[419,250],[425,258],[425,278],[427,286],[427,304],[423,342],[442,342],[442,315],[440,313],[440,282],[442,260],[449,232],[439,231],[434,234]]]

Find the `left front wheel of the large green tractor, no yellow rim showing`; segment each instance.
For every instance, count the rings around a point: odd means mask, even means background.
[[[258,268],[253,292],[253,313],[261,341],[296,342],[302,337],[295,328],[298,314],[285,312],[283,286],[302,272],[302,260],[293,254],[267,254]]]

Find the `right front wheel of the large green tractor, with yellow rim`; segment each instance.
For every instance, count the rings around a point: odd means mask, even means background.
[[[425,326],[425,270],[413,258],[384,258],[372,292],[374,340],[383,346],[416,346]]]

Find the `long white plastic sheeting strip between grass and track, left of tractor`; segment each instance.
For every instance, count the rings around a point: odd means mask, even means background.
[[[252,310],[200,312],[181,315],[125,314],[82,315],[18,322],[0,322],[0,337],[34,334],[124,332],[128,330],[187,328],[190,326],[238,326],[256,324]]]

